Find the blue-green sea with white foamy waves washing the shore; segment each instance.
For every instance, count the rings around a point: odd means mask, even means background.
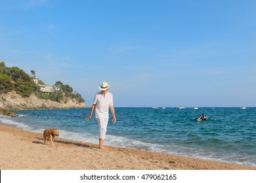
[[[105,145],[163,152],[256,166],[256,108],[240,107],[116,107]],[[0,116],[3,124],[37,133],[56,128],[60,136],[98,144],[98,125],[91,108],[67,110],[15,110],[13,118]],[[204,114],[208,120],[198,121]]]

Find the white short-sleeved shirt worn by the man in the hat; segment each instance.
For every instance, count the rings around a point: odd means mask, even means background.
[[[101,92],[96,93],[95,99],[93,100],[93,104],[95,105],[96,118],[109,118],[109,108],[110,106],[114,106],[112,93],[107,92],[105,96],[102,95]]]

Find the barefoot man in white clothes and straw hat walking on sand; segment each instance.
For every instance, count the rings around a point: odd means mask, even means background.
[[[113,95],[112,93],[108,92],[108,88],[110,85],[108,82],[102,82],[101,86],[98,86],[98,89],[101,92],[96,93],[95,99],[93,100],[93,106],[91,108],[91,114],[85,120],[91,120],[93,116],[93,111],[95,110],[96,120],[98,122],[98,129],[99,129],[99,145],[98,148],[104,148],[104,139],[106,137],[106,129],[108,125],[108,111],[109,108],[113,115],[113,123],[116,124],[116,114],[113,105]]]

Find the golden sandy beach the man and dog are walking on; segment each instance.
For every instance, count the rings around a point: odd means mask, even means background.
[[[255,170],[256,167],[186,158],[172,154],[106,146],[56,137],[43,144],[43,134],[0,125],[1,170]]]

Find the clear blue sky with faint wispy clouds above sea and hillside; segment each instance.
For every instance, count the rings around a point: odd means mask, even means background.
[[[255,107],[256,1],[6,0],[0,60],[91,105]]]

